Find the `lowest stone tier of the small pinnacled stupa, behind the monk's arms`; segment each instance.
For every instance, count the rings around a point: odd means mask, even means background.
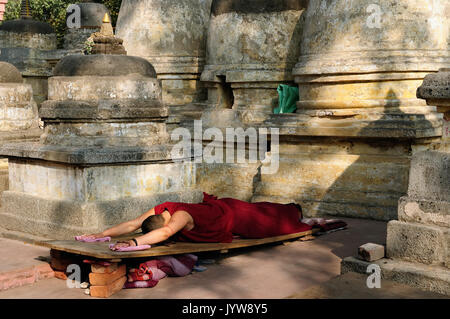
[[[167,201],[197,203],[202,199],[201,192],[192,190],[82,203],[6,191],[1,199],[0,224],[7,230],[65,240],[103,231]]]

